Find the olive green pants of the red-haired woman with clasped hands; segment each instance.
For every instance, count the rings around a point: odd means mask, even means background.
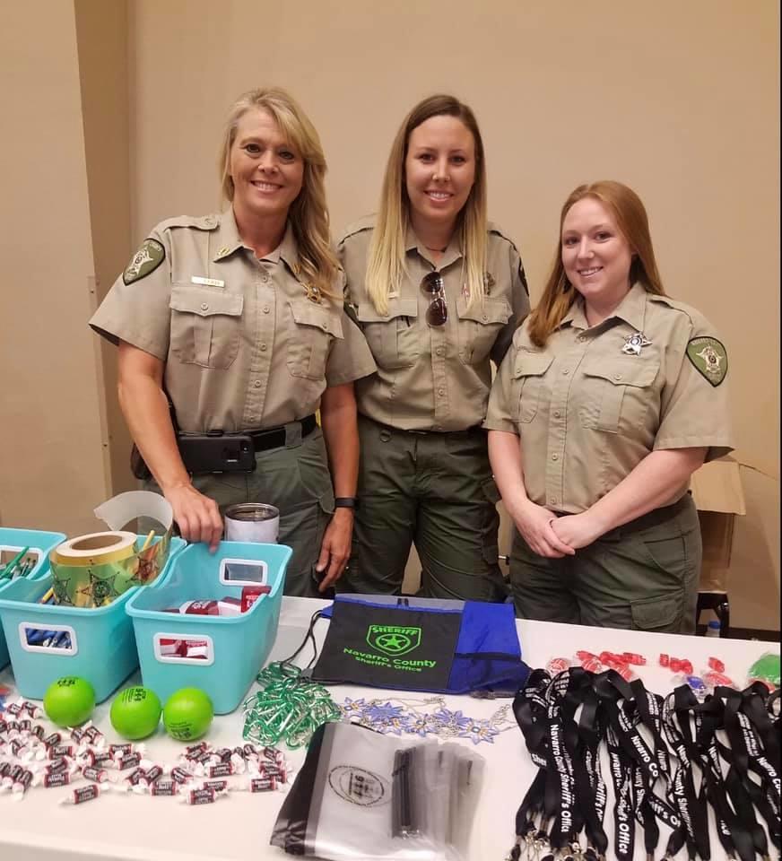
[[[517,616],[636,631],[695,631],[700,526],[689,493],[598,538],[575,556],[538,556],[516,533]]]

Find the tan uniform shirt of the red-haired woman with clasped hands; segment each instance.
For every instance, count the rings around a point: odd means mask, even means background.
[[[622,352],[635,333],[650,343],[638,355]],[[727,357],[711,379],[688,357],[693,339],[716,337],[698,311],[639,284],[599,326],[590,328],[579,299],[543,348],[526,325],[518,330],[491,389],[485,427],[521,438],[530,500],[585,511],[651,451],[708,447],[711,460],[733,448],[722,382]]]

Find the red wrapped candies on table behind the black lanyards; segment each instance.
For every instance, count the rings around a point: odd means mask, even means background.
[[[733,680],[725,674],[725,664],[717,657],[709,657],[708,666],[699,670],[698,674],[695,673],[689,658],[673,657],[662,653],[657,663],[675,674],[674,686],[688,684],[695,695],[701,699],[714,691],[719,684],[734,687]],[[561,673],[571,666],[581,666],[590,673],[602,673],[604,670],[611,669],[616,670],[626,682],[632,682],[633,679],[638,678],[633,667],[646,664],[646,657],[634,652],[604,651],[595,655],[592,652],[579,650],[576,652],[576,657],[553,657],[546,664],[546,669],[552,675]]]

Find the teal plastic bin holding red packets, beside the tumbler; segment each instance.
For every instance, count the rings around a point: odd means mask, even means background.
[[[236,709],[274,645],[291,552],[285,544],[223,541],[214,553],[205,544],[179,553],[159,587],[138,592],[127,603],[144,686],[162,702],[179,688],[200,688],[215,714]],[[187,601],[237,599],[244,587],[259,583],[271,592],[245,613],[165,612]],[[172,644],[183,643],[195,645],[197,657],[172,652]]]

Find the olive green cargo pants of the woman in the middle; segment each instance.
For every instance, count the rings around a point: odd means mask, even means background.
[[[485,431],[396,431],[360,415],[359,436],[359,508],[338,589],[398,595],[414,543],[421,596],[501,600],[500,495]]]

